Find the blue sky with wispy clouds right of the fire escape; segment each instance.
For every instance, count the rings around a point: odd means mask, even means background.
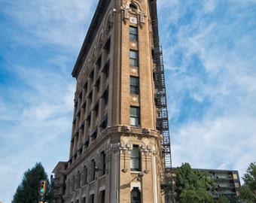
[[[175,166],[239,169],[242,176],[254,161],[254,3],[160,3]]]

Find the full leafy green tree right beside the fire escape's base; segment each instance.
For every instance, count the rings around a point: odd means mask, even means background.
[[[179,203],[212,203],[215,181],[209,174],[192,169],[184,163],[175,170],[175,192]]]

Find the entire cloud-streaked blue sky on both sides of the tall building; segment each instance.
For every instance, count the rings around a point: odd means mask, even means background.
[[[69,158],[71,72],[95,0],[0,0],[0,201]],[[239,170],[256,154],[256,1],[158,0],[172,165]],[[4,186],[4,187],[3,187]]]

